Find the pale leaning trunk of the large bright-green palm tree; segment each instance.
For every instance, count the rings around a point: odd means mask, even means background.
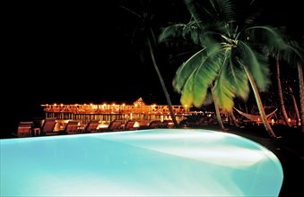
[[[257,90],[257,87],[256,87],[256,81],[254,80],[253,76],[251,73],[249,73],[248,69],[246,66],[244,66],[244,70],[248,76],[248,80],[250,82],[250,85],[251,85],[251,88],[252,90],[254,91],[254,94],[255,94],[255,97],[256,97],[256,105],[258,107],[258,111],[259,111],[259,114],[262,118],[262,121],[263,121],[263,124],[265,126],[265,130],[266,132],[268,133],[268,135],[272,138],[276,138],[276,135],[273,131],[273,128],[271,127],[271,125],[268,123],[268,121],[266,120],[266,115],[265,115],[265,110],[264,110],[264,107],[263,107],[263,104],[262,104],[262,100],[261,100],[261,97],[260,97],[260,94]]]

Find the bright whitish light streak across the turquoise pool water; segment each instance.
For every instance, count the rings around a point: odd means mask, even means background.
[[[198,159],[227,167],[249,166],[264,158],[260,149],[244,150],[243,147],[239,147],[238,141],[234,141],[234,143],[224,141],[231,137],[230,133],[214,133],[207,130],[202,133],[191,129],[183,132],[172,130],[170,133],[163,133],[163,130],[158,130],[155,133],[144,132],[143,134],[138,134],[138,132],[131,132],[125,135],[111,136],[115,137],[115,140],[119,139],[124,141],[124,143],[144,146],[146,149],[149,148],[179,157]],[[238,136],[234,137],[238,138]],[[168,142],[168,140],[173,139],[176,141]],[[158,140],[157,146],[155,146],[154,142],[151,142],[153,140]],[[249,144],[248,148],[250,148]],[[187,145],[189,146],[185,149]],[[211,146],[213,149],[210,149]],[[227,159],[224,164],[222,163],[223,159]]]

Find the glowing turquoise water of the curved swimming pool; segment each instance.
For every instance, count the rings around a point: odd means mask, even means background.
[[[1,140],[1,196],[278,196],[260,144],[204,129]]]

